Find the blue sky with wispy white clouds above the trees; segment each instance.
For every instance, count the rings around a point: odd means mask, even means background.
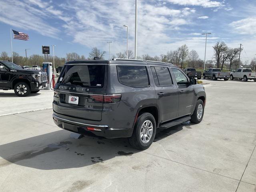
[[[111,55],[134,50],[135,0],[0,0],[0,52],[10,53],[10,28],[27,33],[29,41],[13,40],[13,51],[25,56],[41,54],[42,45],[56,45],[57,56],[77,52],[88,56],[92,47]],[[208,37],[206,59],[212,45],[243,44],[243,61],[256,54],[255,0],[138,0],[138,55],[151,56],[187,44],[204,58],[204,32]]]

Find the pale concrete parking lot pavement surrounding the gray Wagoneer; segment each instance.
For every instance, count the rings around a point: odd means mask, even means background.
[[[256,82],[203,82],[203,121],[158,131],[145,151],[56,127],[51,91],[1,91],[0,191],[255,192]]]

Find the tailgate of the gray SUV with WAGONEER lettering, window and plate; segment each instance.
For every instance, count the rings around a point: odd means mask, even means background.
[[[54,90],[54,112],[85,120],[102,119],[106,65],[74,64],[62,69]]]

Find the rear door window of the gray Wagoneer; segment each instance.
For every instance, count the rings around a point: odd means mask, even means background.
[[[171,86],[172,78],[168,67],[150,67],[153,73],[153,77],[156,86]]]

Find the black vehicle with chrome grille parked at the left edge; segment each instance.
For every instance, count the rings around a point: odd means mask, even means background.
[[[47,86],[47,74],[37,70],[25,70],[9,62],[0,61],[0,89],[13,89],[15,94],[24,97],[37,93]]]

